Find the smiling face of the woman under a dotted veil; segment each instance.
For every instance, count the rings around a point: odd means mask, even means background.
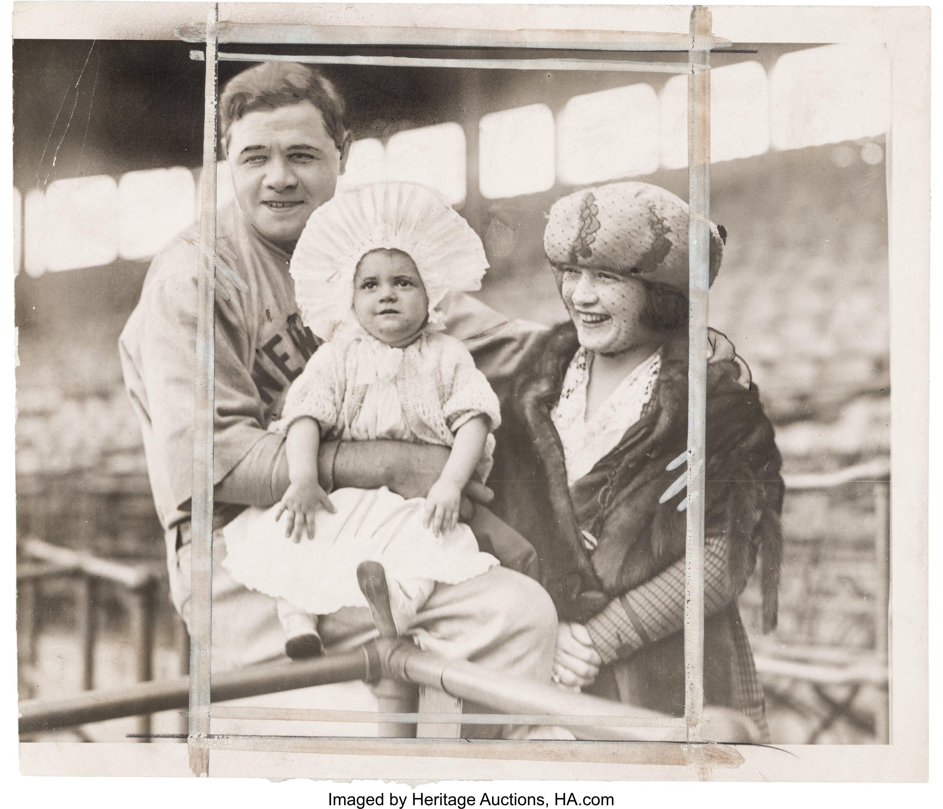
[[[642,323],[645,287],[635,278],[594,267],[564,264],[560,294],[580,346],[598,354],[620,354],[657,339]]]

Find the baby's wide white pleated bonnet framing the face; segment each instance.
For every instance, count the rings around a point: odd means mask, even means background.
[[[364,254],[395,248],[416,264],[429,298],[429,326],[441,329],[443,298],[481,289],[485,248],[438,194],[410,182],[377,182],[335,194],[316,209],[291,257],[295,298],[308,328],[324,340],[359,329],[354,276]]]

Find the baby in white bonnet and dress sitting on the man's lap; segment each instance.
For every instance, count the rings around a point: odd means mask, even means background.
[[[400,635],[437,581],[499,564],[458,522],[463,487],[488,475],[498,400],[468,351],[441,333],[446,295],[479,289],[487,267],[472,228],[422,186],[337,194],[308,220],[290,271],[306,325],[327,342],[270,427],[287,433],[290,486],[223,534],[233,577],[278,598],[290,657],[321,653],[318,615],[366,604],[381,632]],[[328,496],[322,438],[452,451],[424,500],[386,487]]]

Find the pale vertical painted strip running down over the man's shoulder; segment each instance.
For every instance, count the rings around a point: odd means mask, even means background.
[[[190,566],[190,769],[209,774],[209,675],[213,582],[213,412],[216,330],[216,84],[219,7],[207,18],[203,188],[197,267],[196,379],[193,418]]]

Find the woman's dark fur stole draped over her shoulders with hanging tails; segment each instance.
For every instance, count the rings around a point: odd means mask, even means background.
[[[683,494],[658,499],[683,471],[666,466],[687,446],[687,339],[662,346],[653,396],[620,444],[573,486],[550,410],[578,348],[570,323],[528,352],[503,408],[491,485],[494,511],[534,545],[540,580],[563,619],[587,620],[612,598],[650,580],[685,554]],[[755,388],[736,382],[732,363],[708,364],[706,535],[728,538],[732,598],[762,560],[763,624],[776,624],[782,557],[783,481],[772,425]],[[592,555],[583,531],[598,546]]]

